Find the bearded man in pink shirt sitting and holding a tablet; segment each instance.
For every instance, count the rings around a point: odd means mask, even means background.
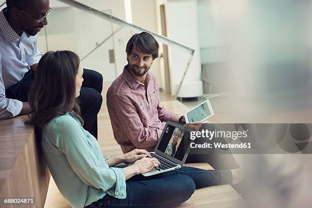
[[[152,151],[166,121],[185,123],[184,116],[160,106],[156,78],[148,71],[158,58],[158,49],[159,44],[149,33],[132,36],[126,46],[128,64],[106,95],[114,137],[124,153],[135,148]],[[187,125],[194,130],[201,127],[200,122]],[[211,127],[202,125],[202,128]],[[239,167],[231,154],[190,153],[187,162],[207,162],[215,169]]]

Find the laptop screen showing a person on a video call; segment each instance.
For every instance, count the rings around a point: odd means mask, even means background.
[[[158,146],[158,150],[182,161],[187,147],[190,145],[191,140],[189,138],[189,132],[172,125],[167,125],[164,129],[164,135]]]

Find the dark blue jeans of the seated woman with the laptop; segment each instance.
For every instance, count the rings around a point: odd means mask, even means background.
[[[149,177],[136,175],[126,181],[125,199],[106,195],[86,207],[171,207],[188,200],[195,189],[231,182],[230,171],[182,167]]]

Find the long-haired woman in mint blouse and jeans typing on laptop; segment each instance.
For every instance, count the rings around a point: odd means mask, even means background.
[[[31,123],[41,131],[44,158],[58,189],[72,207],[170,207],[196,188],[231,184],[232,171],[182,167],[150,177],[158,167],[143,149],[104,158],[97,140],[83,128],[79,97],[83,68],[71,51],[46,53],[29,95]],[[116,166],[134,162],[132,166]]]

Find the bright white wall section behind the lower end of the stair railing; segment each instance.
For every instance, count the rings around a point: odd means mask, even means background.
[[[195,49],[184,83],[199,81],[201,65],[196,0],[168,0],[167,23],[170,39]],[[171,47],[171,89],[175,89],[175,84],[180,81],[187,58],[181,57],[181,52]]]

